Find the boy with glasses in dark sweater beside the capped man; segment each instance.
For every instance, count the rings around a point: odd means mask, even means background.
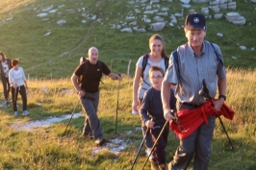
[[[161,101],[161,85],[165,72],[158,66],[151,66],[149,70],[149,81],[152,86],[145,91],[141,103],[140,115],[145,126],[150,130],[154,143],[156,142],[160,132],[166,124],[164,110]],[[170,88],[171,100],[170,109],[176,111],[176,99],[174,91]],[[164,133],[160,136],[156,147],[154,148],[151,161],[151,170],[167,170],[166,166],[166,145],[169,134],[169,126],[165,127]]]

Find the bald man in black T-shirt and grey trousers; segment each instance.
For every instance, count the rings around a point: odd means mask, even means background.
[[[103,137],[102,128],[97,116],[99,102],[99,83],[102,73],[108,75],[112,80],[121,81],[121,77],[111,72],[108,66],[98,60],[98,49],[90,47],[88,52],[89,60],[84,61],[74,71],[71,82],[79,95],[81,105],[87,117],[83,134],[86,137],[94,137],[96,145],[103,145],[107,140]],[[83,76],[79,85],[78,80]]]

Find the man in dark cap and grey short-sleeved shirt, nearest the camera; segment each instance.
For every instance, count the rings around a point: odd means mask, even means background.
[[[170,113],[168,105],[171,85],[177,85],[175,88],[177,114],[183,117],[180,119],[179,126],[182,125],[183,120],[190,121],[186,119],[186,115],[190,116],[194,109],[197,110],[207,104],[207,101],[199,95],[204,80],[212,98],[215,97],[218,86],[219,97],[214,101],[213,113],[205,115],[205,121],[197,128],[184,127],[184,130],[180,130],[180,146],[168,164],[168,168],[170,170],[187,169],[194,157],[193,170],[207,170],[215,129],[215,113],[220,110],[226,99],[226,72],[218,45],[204,40],[206,36],[205,16],[200,13],[187,15],[184,30],[188,42],[178,47],[176,60],[172,53],[162,84],[162,102],[166,120],[177,118]],[[203,116],[204,114],[200,111],[201,109],[198,109],[197,114]],[[182,137],[186,133],[190,135]]]

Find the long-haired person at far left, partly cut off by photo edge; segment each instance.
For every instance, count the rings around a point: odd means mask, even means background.
[[[11,89],[11,85],[9,82],[9,70],[12,68],[10,59],[7,59],[6,55],[3,52],[0,52],[0,74],[1,74],[1,81],[3,85],[4,95],[5,95],[5,102],[4,104],[9,104],[9,93]]]

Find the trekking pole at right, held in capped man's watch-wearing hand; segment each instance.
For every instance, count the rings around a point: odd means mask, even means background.
[[[206,85],[204,79],[203,79],[203,81],[202,81],[202,84],[203,84],[202,89],[200,89],[199,92],[198,92],[199,95],[200,95],[201,97],[203,97],[204,100],[209,100],[209,99],[210,99],[211,102],[212,102],[212,106],[215,107],[214,99],[210,96],[209,89],[208,89],[208,87],[207,87],[207,85]],[[223,130],[224,130],[224,132],[225,132],[225,134],[226,134],[226,136],[227,136],[228,142],[229,142],[229,144],[230,144],[230,146],[231,146],[231,150],[233,150],[235,147],[234,147],[234,145],[232,144],[232,142],[231,142],[231,140],[230,140],[230,138],[229,138],[229,135],[227,134],[227,131],[226,131],[226,129],[225,129],[225,126],[224,126],[224,124],[223,124],[223,122],[222,122],[222,120],[221,120],[219,114],[218,114],[218,120],[219,120],[219,122],[220,122],[220,124],[221,124],[221,126],[222,126],[222,128],[223,128]]]

